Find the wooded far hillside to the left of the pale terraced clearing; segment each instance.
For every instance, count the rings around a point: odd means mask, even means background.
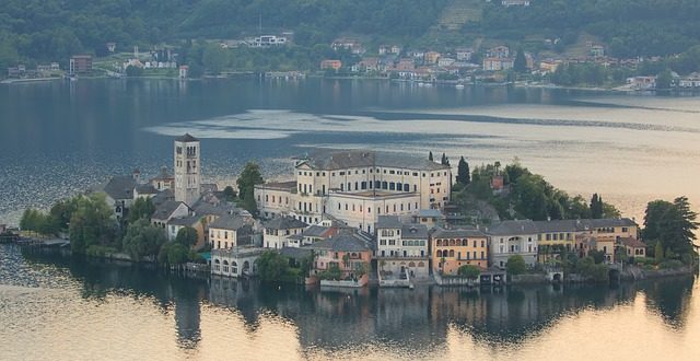
[[[0,66],[61,60],[184,38],[237,38],[294,31],[303,47],[341,33],[407,39],[422,35],[446,0],[5,0],[0,2]]]

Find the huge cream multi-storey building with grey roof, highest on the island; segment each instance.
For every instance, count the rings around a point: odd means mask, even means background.
[[[362,150],[298,160],[294,176],[255,186],[264,217],[317,223],[331,216],[370,233],[378,216],[410,219],[420,209],[441,209],[452,184],[448,165]]]

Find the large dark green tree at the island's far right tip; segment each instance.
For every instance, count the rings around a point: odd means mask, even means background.
[[[698,229],[697,218],[698,214],[690,210],[690,203],[686,197],[678,197],[673,202],[654,200],[646,205],[642,235],[649,244],[655,244],[655,253],[666,249],[661,258],[664,256],[682,258],[682,255],[693,252],[692,241],[696,240],[695,231]],[[657,254],[654,256],[657,260],[661,259]]]

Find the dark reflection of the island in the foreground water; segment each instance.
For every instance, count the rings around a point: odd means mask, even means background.
[[[244,329],[231,329],[232,335],[255,335],[270,318],[293,325],[302,357],[311,350],[334,354],[377,346],[411,358],[429,358],[445,351],[451,330],[487,348],[514,347],[547,334],[564,318],[588,311],[612,312],[633,305],[638,298],[643,298],[643,305],[665,325],[681,330],[691,311],[695,282],[687,277],[616,287],[319,291],[218,277],[184,279],[154,268],[43,253],[24,253],[24,257],[34,266],[68,269],[80,283],[81,295],[93,302],[110,302],[118,295],[153,303],[174,317],[182,349],[201,345],[202,310],[214,307],[242,319]]]

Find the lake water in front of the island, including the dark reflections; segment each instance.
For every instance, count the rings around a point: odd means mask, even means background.
[[[0,359],[697,360],[698,292],[693,277],[320,291],[0,245]]]

